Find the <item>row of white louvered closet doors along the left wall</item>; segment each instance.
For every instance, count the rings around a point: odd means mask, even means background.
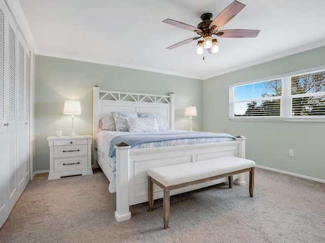
[[[0,0],[0,227],[29,181],[30,52]]]

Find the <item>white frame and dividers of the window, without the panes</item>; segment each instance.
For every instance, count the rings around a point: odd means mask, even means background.
[[[298,97],[307,97],[307,96],[315,96],[315,95],[325,95],[325,92],[318,92],[318,93],[308,93],[308,94],[298,94],[298,95],[291,95],[291,77],[297,75],[304,75],[311,72],[320,72],[325,71],[325,66],[309,68],[305,70],[299,70],[290,73],[284,73],[276,76],[266,77],[266,78],[259,78],[243,83],[232,84],[229,85],[229,119],[230,120],[249,120],[249,121],[304,121],[310,123],[324,123],[325,122],[325,115],[324,116],[292,116],[292,100],[293,98]],[[282,90],[281,96],[279,97],[267,97],[267,98],[259,98],[253,99],[250,101],[261,101],[261,100],[272,100],[272,99],[280,99],[280,116],[234,116],[235,110],[235,103],[239,103],[240,101],[234,101],[234,90],[235,87],[255,84],[255,83],[262,83],[267,82],[270,80],[281,79],[282,83]]]

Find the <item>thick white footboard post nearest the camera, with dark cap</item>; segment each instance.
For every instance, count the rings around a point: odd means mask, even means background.
[[[128,151],[125,143],[115,145],[116,149],[116,211],[115,219],[120,222],[131,218],[128,203]]]

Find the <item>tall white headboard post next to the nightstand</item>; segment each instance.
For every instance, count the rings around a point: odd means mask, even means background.
[[[98,134],[99,129],[99,103],[100,103],[100,87],[92,87],[92,165],[93,168],[98,168],[98,163],[96,160],[95,153],[95,136]]]

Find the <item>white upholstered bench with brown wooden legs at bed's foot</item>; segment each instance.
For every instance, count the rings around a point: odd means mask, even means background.
[[[224,177],[229,178],[229,188],[232,188],[233,175],[249,171],[249,194],[253,196],[254,167],[255,162],[252,160],[229,156],[149,169],[147,171],[149,211],[151,212],[153,207],[153,183],[164,189],[165,229],[169,224],[170,190]]]

